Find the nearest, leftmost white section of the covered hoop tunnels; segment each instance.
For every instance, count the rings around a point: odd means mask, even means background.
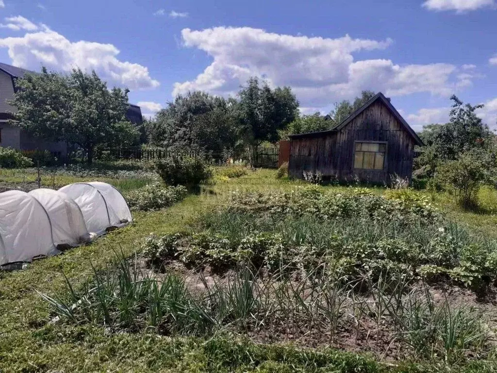
[[[20,190],[0,193],[0,265],[57,252],[50,219],[40,202]]]

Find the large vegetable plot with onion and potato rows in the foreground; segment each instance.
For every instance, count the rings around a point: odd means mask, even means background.
[[[454,365],[495,352],[496,247],[405,192],[243,193],[47,300],[62,322],[113,331]]]

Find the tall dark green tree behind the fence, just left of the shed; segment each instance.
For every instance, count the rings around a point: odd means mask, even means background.
[[[238,93],[241,139],[248,147],[262,141],[275,142],[278,131],[298,115],[299,102],[289,87],[272,90],[267,83],[250,78]]]

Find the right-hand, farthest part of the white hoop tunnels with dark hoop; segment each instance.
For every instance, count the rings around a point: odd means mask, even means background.
[[[75,183],[59,189],[80,206],[89,232],[101,234],[133,220],[126,200],[115,187],[101,182]]]

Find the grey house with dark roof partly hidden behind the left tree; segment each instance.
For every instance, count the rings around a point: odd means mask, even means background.
[[[19,150],[49,150],[57,157],[65,158],[68,150],[65,142],[45,141],[8,124],[8,120],[13,118],[11,113],[15,112],[16,108],[7,101],[15,92],[15,80],[24,77],[26,73],[33,72],[0,63],[0,146]],[[133,124],[143,123],[140,106],[129,104],[126,117]]]

